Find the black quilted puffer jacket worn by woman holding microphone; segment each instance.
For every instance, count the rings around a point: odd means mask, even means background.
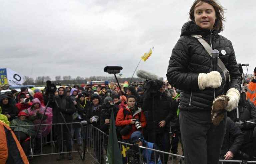
[[[199,73],[209,73],[211,68],[211,57],[200,42],[191,35],[202,35],[203,39],[212,49],[220,52],[220,59],[230,72],[231,82],[224,80],[224,74],[218,67],[217,71],[222,76],[222,84],[215,89],[216,96],[225,94],[230,88],[240,91],[240,73],[235,58],[235,52],[231,42],[225,37],[218,35],[216,30],[206,30],[197,26],[194,22],[185,23],[181,29],[181,37],[173,48],[169,61],[167,79],[171,86],[181,90],[180,110],[211,111],[214,93],[212,88],[199,90]],[[211,40],[211,42],[210,42]],[[221,51],[226,54],[222,55]]]

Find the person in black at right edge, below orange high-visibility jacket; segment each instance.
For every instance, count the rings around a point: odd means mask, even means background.
[[[255,124],[250,122],[256,122],[256,107],[254,104],[246,100],[245,88],[243,88],[239,103],[239,120],[237,119],[237,111],[233,110],[228,113],[228,116],[238,124],[239,128],[242,130],[244,135],[244,142],[241,151],[248,154],[250,157],[256,156],[255,149],[255,136],[253,136],[253,131]],[[249,121],[249,122],[248,122]],[[253,143],[253,144],[252,144]],[[254,159],[255,160],[255,159]]]

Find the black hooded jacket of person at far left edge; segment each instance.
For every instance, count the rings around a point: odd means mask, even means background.
[[[3,104],[2,100],[8,98],[8,104]],[[13,120],[18,115],[18,108],[12,103],[11,98],[3,94],[0,96],[0,106],[2,107],[2,114],[9,114],[11,118],[9,121]]]

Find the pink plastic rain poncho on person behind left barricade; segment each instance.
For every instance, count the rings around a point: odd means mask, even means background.
[[[28,108],[29,116],[36,116],[36,113],[38,111],[43,115],[46,107],[41,105],[41,102],[39,101],[38,98],[35,98],[32,102],[33,102],[32,107]],[[35,103],[39,103],[40,105],[39,109],[34,108]],[[48,107],[46,109],[45,115],[47,116],[47,118],[45,120],[42,120],[42,124],[52,124],[52,108]],[[40,124],[40,119],[35,119],[33,123],[35,125]],[[36,131],[38,127],[39,126],[35,126]],[[51,129],[52,129],[52,125],[41,125],[40,130],[38,131],[38,134],[37,134],[37,138],[40,138],[41,134],[42,134],[42,137],[47,136],[50,133]]]

